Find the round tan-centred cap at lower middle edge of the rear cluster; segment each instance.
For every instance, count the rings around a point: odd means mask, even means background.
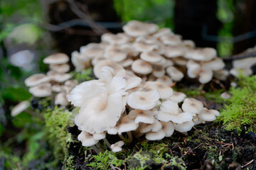
[[[138,74],[149,74],[152,72],[152,67],[148,62],[138,59],[132,63],[132,71]]]

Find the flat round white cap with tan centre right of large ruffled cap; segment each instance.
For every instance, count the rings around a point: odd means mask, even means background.
[[[156,106],[156,102],[159,100],[160,94],[156,89],[156,86],[146,86],[142,91],[135,91],[129,95],[127,104],[135,109],[150,110]]]

